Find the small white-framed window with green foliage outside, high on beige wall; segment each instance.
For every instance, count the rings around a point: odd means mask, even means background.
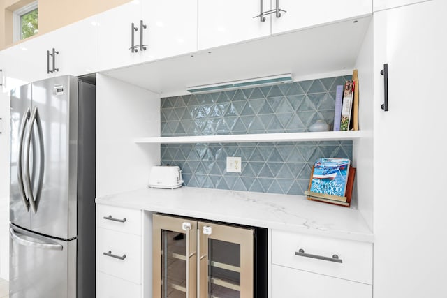
[[[15,10],[13,22],[14,42],[38,33],[37,1]]]

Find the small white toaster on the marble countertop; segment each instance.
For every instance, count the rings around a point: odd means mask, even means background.
[[[173,189],[182,184],[182,170],[177,165],[157,165],[151,168],[149,187]]]

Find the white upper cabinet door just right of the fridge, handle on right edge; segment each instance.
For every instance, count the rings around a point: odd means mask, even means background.
[[[98,70],[109,70],[141,61],[140,51],[132,53],[132,23],[135,45],[140,40],[140,1],[134,0],[97,15],[98,24]]]

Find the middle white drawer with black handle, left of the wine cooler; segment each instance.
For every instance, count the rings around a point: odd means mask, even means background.
[[[96,229],[96,264],[101,272],[133,283],[141,283],[141,237],[102,228]]]

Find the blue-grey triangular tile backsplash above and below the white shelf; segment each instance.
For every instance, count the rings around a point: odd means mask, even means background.
[[[334,120],[335,90],[351,76],[270,87],[161,98],[161,135],[309,131]],[[226,157],[242,157],[242,172],[226,172]],[[319,157],[352,158],[351,141],[161,144],[163,165],[179,165],[192,187],[303,195]]]

